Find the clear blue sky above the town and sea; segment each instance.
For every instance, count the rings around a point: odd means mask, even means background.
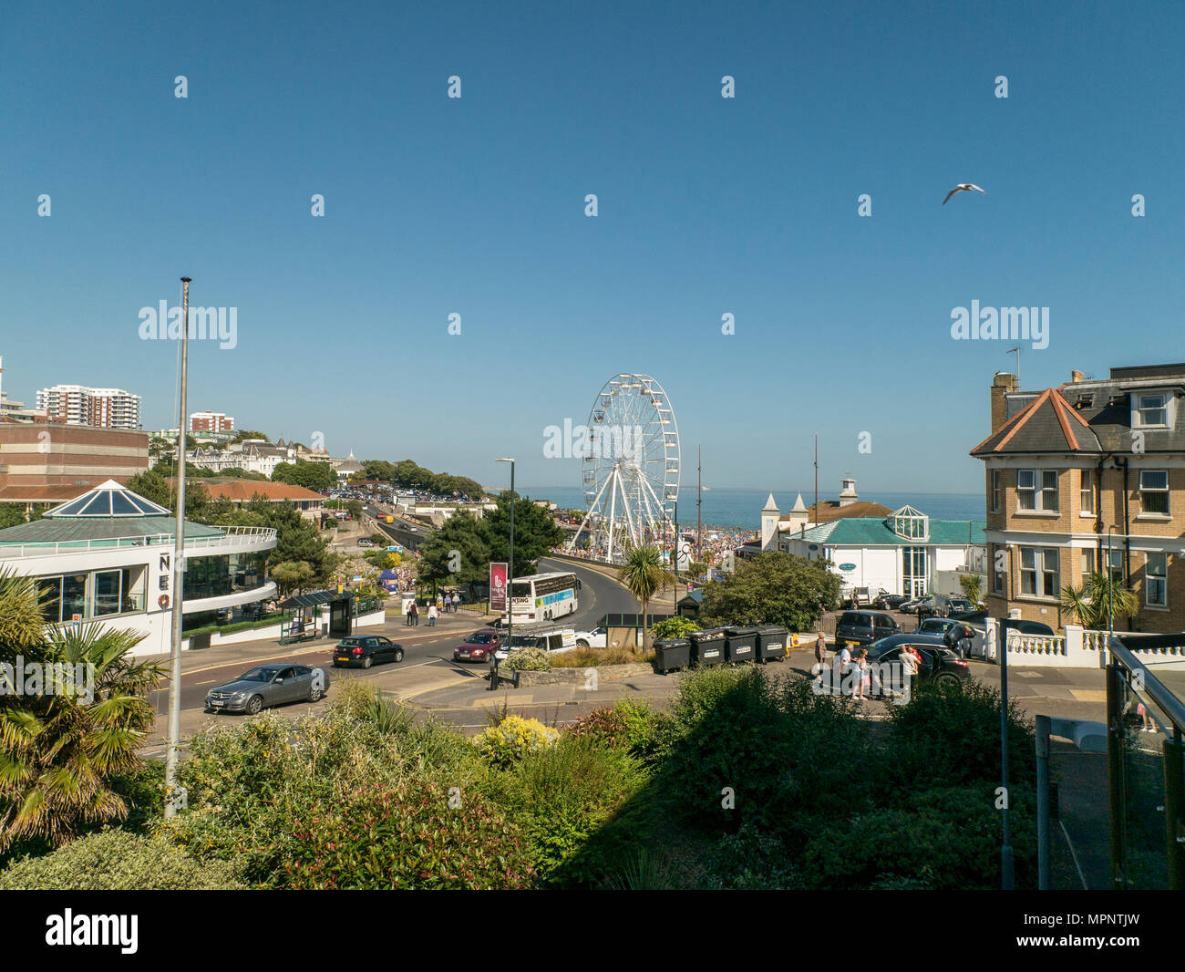
[[[238,308],[237,347],[191,352],[191,410],[576,485],[544,427],[638,371],[715,487],[805,487],[818,431],[825,491],[851,472],[872,495],[981,488],[967,452],[1013,345],[953,340],[955,307],[1050,308],[1026,388],[1185,358],[1177,2],[59,4],[5,25],[14,398],[115,385],[175,424],[175,345],[137,314],[190,275],[196,305]],[[962,181],[987,194],[942,206]]]

